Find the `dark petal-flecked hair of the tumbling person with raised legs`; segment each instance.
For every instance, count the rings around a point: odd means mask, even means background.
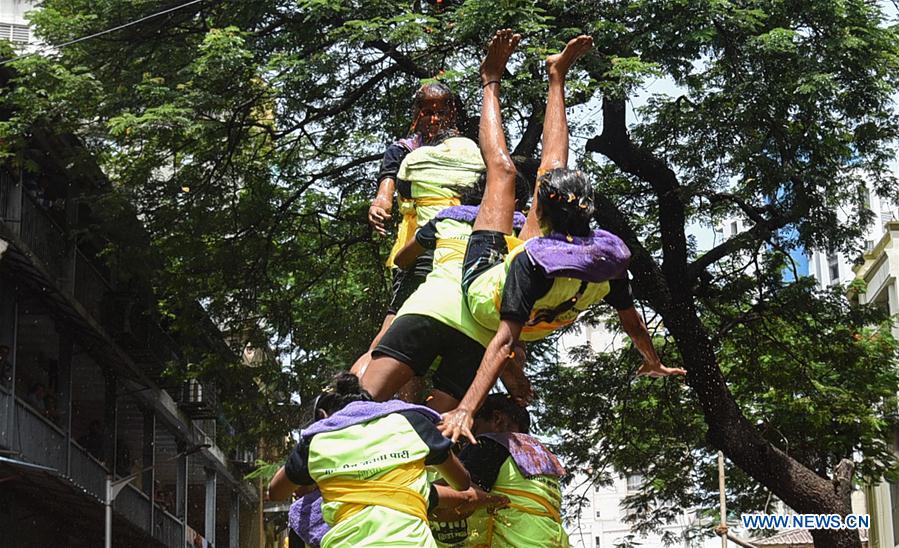
[[[540,179],[537,199],[540,220],[553,232],[589,236],[593,217],[593,186],[580,170],[552,169]]]

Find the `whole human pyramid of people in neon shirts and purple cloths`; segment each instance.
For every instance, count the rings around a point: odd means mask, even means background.
[[[685,374],[660,362],[631,298],[630,252],[591,228],[592,185],[567,167],[565,78],[589,36],[547,57],[540,167],[522,213],[530,189],[500,110],[520,39],[500,30],[487,47],[478,144],[456,130],[449,88],[427,84],[411,137],[385,152],[369,220],[386,234],[396,190],[393,300],[369,352],[318,397],[314,422],[269,485],[272,500],[300,496],[289,521],[311,546],[568,546],[564,469],[528,435],[523,341],[605,301],[644,358],[638,374]],[[419,405],[417,379],[429,374]],[[488,395],[497,380],[508,394]]]

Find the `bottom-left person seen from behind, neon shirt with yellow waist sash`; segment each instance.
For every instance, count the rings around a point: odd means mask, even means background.
[[[468,473],[437,431],[440,415],[397,400],[373,402],[351,373],[334,377],[313,415],[319,420],[300,433],[269,483],[269,499],[318,487],[330,527],[324,548],[434,546],[428,509],[438,494],[425,466],[439,470],[453,489],[469,487]]]

